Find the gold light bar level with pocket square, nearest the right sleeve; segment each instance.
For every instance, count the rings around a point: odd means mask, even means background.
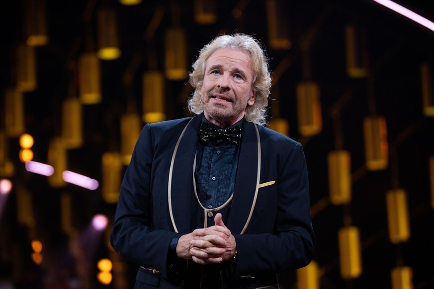
[[[339,149],[329,152],[329,194],[334,205],[348,204],[351,201],[351,155]]]

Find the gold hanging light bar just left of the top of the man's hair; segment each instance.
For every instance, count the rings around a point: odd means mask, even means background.
[[[165,69],[169,80],[182,80],[187,76],[185,32],[180,27],[171,27],[166,30]]]

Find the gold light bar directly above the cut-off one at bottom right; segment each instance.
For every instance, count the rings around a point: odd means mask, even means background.
[[[410,239],[410,217],[407,192],[404,189],[389,190],[386,194],[389,239],[397,244]]]

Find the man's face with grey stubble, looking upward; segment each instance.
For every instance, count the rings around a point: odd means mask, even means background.
[[[247,105],[253,105],[253,70],[247,52],[223,48],[206,62],[199,89],[207,120],[228,127],[244,117]]]

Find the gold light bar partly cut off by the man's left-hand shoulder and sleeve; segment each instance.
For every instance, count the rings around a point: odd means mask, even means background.
[[[120,126],[122,163],[128,165],[140,135],[141,121],[139,115],[128,113],[121,116]]]

